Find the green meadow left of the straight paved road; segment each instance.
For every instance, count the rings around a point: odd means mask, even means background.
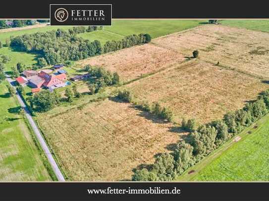
[[[0,181],[52,180],[33,142],[19,105],[0,84]]]

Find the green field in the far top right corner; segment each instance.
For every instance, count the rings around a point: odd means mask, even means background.
[[[269,20],[223,20],[222,25],[269,32]]]

